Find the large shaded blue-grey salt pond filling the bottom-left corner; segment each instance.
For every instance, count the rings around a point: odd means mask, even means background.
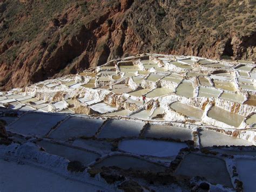
[[[104,191],[93,184],[82,183],[58,174],[0,159],[0,188],[2,191]],[[11,183],[11,184],[10,184]]]

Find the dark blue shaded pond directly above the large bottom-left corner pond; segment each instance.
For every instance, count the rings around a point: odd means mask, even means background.
[[[84,164],[89,164],[95,161],[100,155],[86,150],[80,150],[68,146],[59,145],[49,141],[39,141],[37,145],[43,147],[47,153],[62,156],[70,161],[80,161]]]

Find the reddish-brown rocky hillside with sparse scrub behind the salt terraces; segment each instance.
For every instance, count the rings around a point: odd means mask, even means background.
[[[2,90],[143,52],[256,58],[253,0],[0,0]]]

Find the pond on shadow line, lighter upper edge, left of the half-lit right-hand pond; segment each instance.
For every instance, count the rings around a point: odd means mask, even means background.
[[[145,138],[171,138],[187,141],[192,140],[192,130],[183,127],[150,125],[146,128],[143,136]]]

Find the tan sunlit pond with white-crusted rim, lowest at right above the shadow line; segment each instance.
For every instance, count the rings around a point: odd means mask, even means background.
[[[239,127],[242,120],[244,120],[244,116],[228,112],[216,106],[212,106],[212,108],[208,111],[207,116],[234,127]]]

